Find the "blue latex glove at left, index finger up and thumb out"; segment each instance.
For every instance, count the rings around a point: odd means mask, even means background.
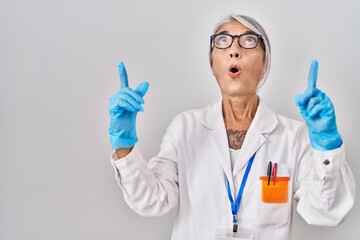
[[[110,98],[109,136],[112,149],[132,148],[138,141],[136,115],[144,111],[144,95],[149,89],[148,82],[142,82],[135,91],[129,88],[126,69],[119,63],[120,91]]]

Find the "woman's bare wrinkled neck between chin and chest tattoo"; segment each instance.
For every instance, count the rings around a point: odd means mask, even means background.
[[[247,128],[254,119],[259,98],[256,94],[248,96],[223,96],[223,116],[226,126]],[[240,123],[240,125],[239,125]],[[247,126],[247,127],[246,127]]]

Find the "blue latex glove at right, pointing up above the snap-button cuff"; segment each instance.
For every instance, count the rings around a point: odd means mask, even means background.
[[[342,139],[336,127],[334,106],[330,98],[316,88],[317,75],[318,62],[313,60],[308,87],[303,94],[295,97],[295,102],[308,127],[312,147],[327,151],[340,147]]]

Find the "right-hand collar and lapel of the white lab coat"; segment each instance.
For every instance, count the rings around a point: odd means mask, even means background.
[[[259,105],[255,117],[246,133],[245,141],[234,165],[234,178],[236,178],[237,174],[246,166],[251,156],[266,142],[269,136],[268,133],[272,132],[277,124],[278,121],[275,113],[259,98]]]

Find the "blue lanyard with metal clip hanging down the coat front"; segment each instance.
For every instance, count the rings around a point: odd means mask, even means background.
[[[234,232],[237,231],[236,230],[237,226],[235,226],[235,225],[237,225],[236,216],[237,216],[237,213],[238,213],[239,208],[240,208],[240,202],[241,202],[242,194],[243,194],[245,184],[246,184],[246,181],[247,181],[247,178],[248,178],[252,163],[254,161],[255,155],[256,155],[256,152],[254,153],[254,155],[252,155],[252,157],[250,158],[250,160],[249,160],[249,162],[247,164],[245,174],[244,174],[243,180],[241,181],[241,186],[240,186],[240,189],[239,189],[239,193],[238,193],[238,195],[236,197],[236,202],[235,203],[234,203],[234,199],[232,197],[232,193],[231,193],[231,190],[230,190],[229,180],[226,178],[226,187],[227,187],[227,190],[228,190],[228,196],[229,196],[229,200],[231,202],[231,211],[232,211],[232,214],[233,214]],[[236,229],[235,229],[235,227],[236,227]]]

